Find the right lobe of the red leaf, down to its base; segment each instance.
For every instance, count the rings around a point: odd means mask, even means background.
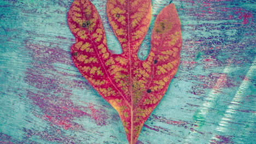
[[[163,23],[165,28],[159,29],[162,28]],[[171,38],[168,35],[171,35]],[[133,71],[138,71],[137,73],[133,73],[133,81],[139,82],[142,80],[138,75],[143,74],[143,81],[147,83],[147,85],[143,85],[143,83],[138,84],[140,91],[144,93],[138,99],[138,104],[135,104],[135,107],[133,107],[135,113],[133,117],[133,125],[135,127],[133,143],[137,141],[144,122],[159,104],[167,91],[168,84],[178,69],[182,35],[181,22],[179,21],[174,4],[167,5],[156,17],[151,45],[151,50],[146,61],[140,61],[137,67],[133,68]],[[141,89],[142,85],[146,88]],[[139,91],[138,88],[135,91]]]

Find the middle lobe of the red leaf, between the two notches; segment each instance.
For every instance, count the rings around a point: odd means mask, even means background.
[[[107,1],[108,21],[124,51],[121,56],[137,61],[137,52],[148,31],[151,13],[150,0]]]

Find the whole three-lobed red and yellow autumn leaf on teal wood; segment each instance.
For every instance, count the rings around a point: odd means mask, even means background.
[[[123,49],[117,55],[109,51],[100,15],[89,0],[75,0],[68,12],[76,39],[73,62],[118,111],[130,144],[136,143],[144,122],[166,93],[180,59],[181,22],[174,4],[156,17],[148,58],[138,58],[151,14],[148,0],[107,1],[108,20]]]

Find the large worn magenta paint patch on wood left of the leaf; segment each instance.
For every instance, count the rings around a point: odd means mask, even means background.
[[[42,115],[34,115],[53,127],[50,131],[24,129],[27,137],[38,135],[45,141],[77,143],[74,137],[68,137],[63,131],[86,130],[83,125],[74,122],[75,119],[89,117],[96,125],[107,124],[109,117],[103,107],[86,102],[84,104],[87,106],[77,105],[70,99],[73,95],[72,89],[90,90],[92,87],[86,81],[65,79],[66,76],[79,76],[65,73],[65,70],[61,71],[54,66],[54,63],[72,65],[67,51],[59,47],[31,44],[31,40],[26,41],[26,46],[34,60],[25,77],[26,83],[31,86],[26,89],[27,97],[42,111]]]

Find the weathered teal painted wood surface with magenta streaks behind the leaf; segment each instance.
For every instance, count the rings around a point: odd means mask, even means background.
[[[156,14],[139,57],[147,57]],[[0,1],[0,143],[127,143],[118,113],[72,63],[72,1]],[[108,45],[120,53],[100,11]],[[138,143],[255,143],[255,2],[173,1],[181,65]]]

